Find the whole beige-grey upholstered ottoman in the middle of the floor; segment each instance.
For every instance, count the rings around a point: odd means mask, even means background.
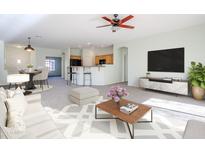
[[[91,87],[74,88],[70,93],[70,100],[77,104],[92,103],[99,99],[99,91]]]

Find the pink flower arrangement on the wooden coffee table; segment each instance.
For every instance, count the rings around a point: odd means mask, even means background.
[[[128,96],[128,92],[120,86],[111,87],[107,93],[107,97],[111,97],[115,102],[119,102],[123,96]]]

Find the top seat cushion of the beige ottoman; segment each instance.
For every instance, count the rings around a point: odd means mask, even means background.
[[[81,87],[81,88],[72,89],[70,95],[72,97],[75,97],[81,100],[81,99],[87,99],[90,97],[98,96],[99,91],[91,87]]]

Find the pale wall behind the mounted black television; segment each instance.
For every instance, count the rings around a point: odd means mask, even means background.
[[[147,72],[147,52],[150,50],[185,47],[185,73],[151,72],[153,77],[178,77],[186,79],[191,61],[205,64],[205,25],[161,33],[115,44],[115,50],[128,47],[128,85],[138,86],[139,77]]]

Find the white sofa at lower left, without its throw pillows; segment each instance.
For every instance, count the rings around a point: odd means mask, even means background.
[[[18,138],[22,139],[58,139],[64,138],[58,130],[55,123],[41,105],[41,95],[26,96],[28,105],[24,113],[24,122],[26,131]],[[13,138],[6,132],[6,115],[7,110],[4,102],[0,102],[0,138]]]

